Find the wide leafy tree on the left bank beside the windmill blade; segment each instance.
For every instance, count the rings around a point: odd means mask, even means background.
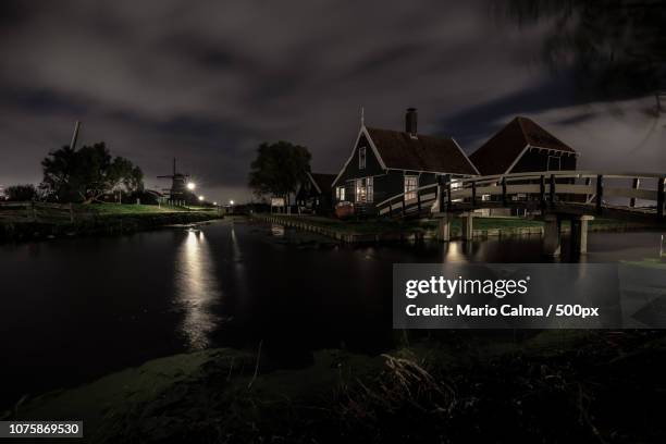
[[[41,166],[40,186],[59,201],[90,203],[113,190],[143,189],[141,170],[125,158],[112,157],[103,141],[78,150],[65,146],[51,151]]]

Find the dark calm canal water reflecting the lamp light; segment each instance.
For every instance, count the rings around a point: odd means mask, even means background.
[[[654,258],[659,233],[592,233],[589,262]],[[576,261],[564,250],[562,260]],[[281,226],[220,221],[120,237],[0,246],[0,410],[156,357],[391,347],[396,262],[539,262],[539,237],[345,247]]]

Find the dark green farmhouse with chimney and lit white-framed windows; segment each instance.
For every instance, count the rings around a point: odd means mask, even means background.
[[[451,137],[417,133],[417,110],[409,108],[405,131],[380,130],[361,122],[351,155],[333,181],[334,203],[349,201],[357,213],[377,212],[375,203],[434,184],[440,175],[466,177],[479,172]]]

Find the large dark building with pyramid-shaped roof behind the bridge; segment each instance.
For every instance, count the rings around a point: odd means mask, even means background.
[[[528,118],[517,116],[469,158],[481,175],[576,170],[578,155]]]

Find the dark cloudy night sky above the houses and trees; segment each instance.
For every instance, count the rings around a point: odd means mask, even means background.
[[[307,146],[336,173],[368,125],[455,137],[467,152],[516,114],[580,165],[666,171],[654,97],[588,103],[542,63],[553,26],[518,27],[488,1],[0,2],[0,185],[41,180],[70,141],[104,140],[168,183],[177,157],[211,200],[248,199],[264,140]]]

